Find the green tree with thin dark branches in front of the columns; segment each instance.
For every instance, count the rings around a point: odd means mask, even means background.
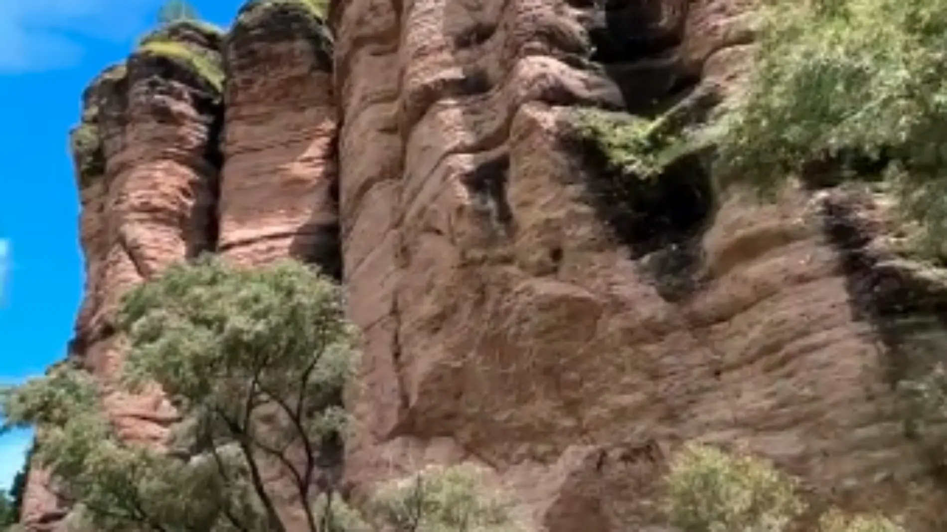
[[[355,333],[340,289],[311,269],[216,259],[170,267],[124,299],[122,383],[157,383],[177,408],[168,452],[126,443],[100,414],[98,385],[64,364],[10,390],[8,424],[35,423],[38,457],[95,530],[286,532],[294,493],[306,529],[331,491],[347,415]],[[273,482],[274,471],[283,481]],[[323,519],[320,520],[320,517]]]

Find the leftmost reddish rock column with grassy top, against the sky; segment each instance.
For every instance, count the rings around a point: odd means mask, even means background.
[[[160,444],[174,413],[157,391],[113,390],[121,361],[113,318],[134,285],[214,247],[219,41],[188,24],[152,35],[92,83],[72,133],[86,279],[69,356],[101,381],[106,414],[129,441]],[[31,469],[27,530],[53,530],[63,519],[52,482],[47,471]]]

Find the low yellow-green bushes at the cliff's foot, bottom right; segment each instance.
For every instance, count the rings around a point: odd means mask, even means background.
[[[806,509],[798,480],[769,461],[698,443],[674,456],[665,480],[665,509],[682,532],[786,532]],[[831,509],[818,532],[905,531],[884,516]]]

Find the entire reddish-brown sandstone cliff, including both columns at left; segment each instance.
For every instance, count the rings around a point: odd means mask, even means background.
[[[306,2],[256,2],[223,40],[167,32],[223,72],[146,48],[87,91],[73,356],[107,386],[116,298],[171,261],[297,257],[341,276],[364,330],[356,499],[470,460],[531,529],[645,529],[697,438],[943,529],[892,392],[909,342],[884,324],[947,298],[886,254],[884,204],[795,186],[760,203],[681,160],[629,212],[576,140],[577,106],[713,115],[751,4],[338,0],[331,39]],[[108,398],[128,438],[173,417],[156,392]],[[53,529],[45,472],[27,484],[27,528]]]

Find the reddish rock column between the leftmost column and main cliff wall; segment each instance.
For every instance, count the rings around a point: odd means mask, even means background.
[[[224,44],[220,252],[340,275],[331,38],[304,1],[254,2]]]

